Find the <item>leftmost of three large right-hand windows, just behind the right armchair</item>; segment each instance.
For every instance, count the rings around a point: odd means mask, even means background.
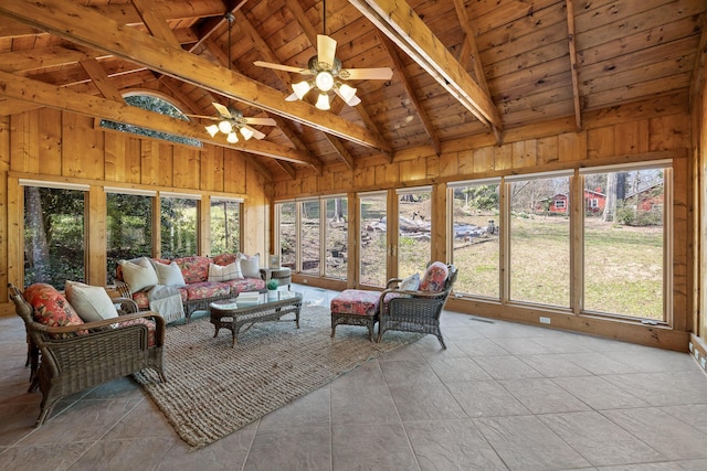
[[[500,297],[500,180],[450,185],[451,260],[458,268],[454,291]]]

